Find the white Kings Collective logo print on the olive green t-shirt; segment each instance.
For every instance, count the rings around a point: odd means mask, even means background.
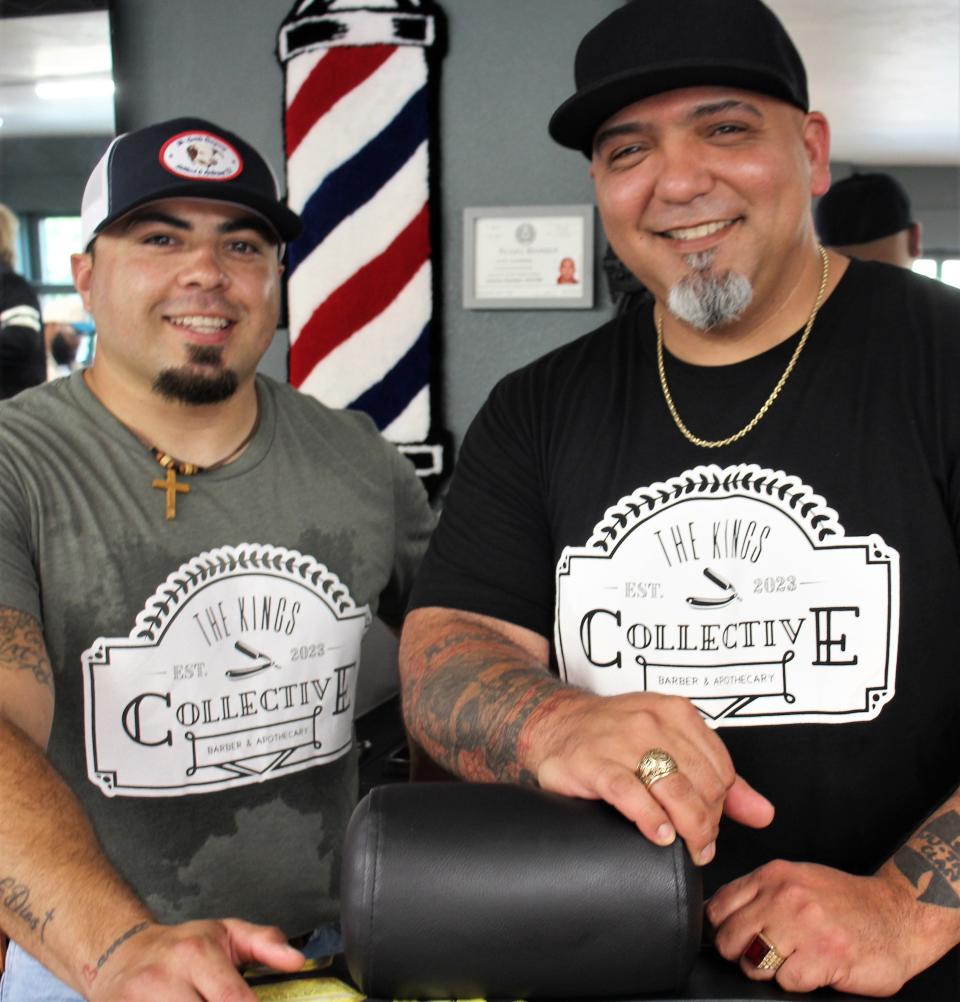
[[[371,621],[313,557],[245,543],[201,553],[127,637],[84,651],[87,775],[107,797],[261,783],[347,755]]]

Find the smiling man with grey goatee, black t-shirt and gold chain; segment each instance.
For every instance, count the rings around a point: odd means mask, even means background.
[[[818,244],[829,128],[760,0],[632,0],[576,83],[551,134],[651,301],[475,420],[408,726],[679,836],[750,977],[893,992],[960,941],[960,298]]]

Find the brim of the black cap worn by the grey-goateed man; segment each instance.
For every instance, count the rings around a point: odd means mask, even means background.
[[[754,90],[778,97],[802,111],[808,110],[806,103],[782,79],[757,66],[730,61],[710,65],[702,59],[689,65],[673,61],[669,65],[627,70],[577,91],[553,112],[548,126],[550,136],[561,146],[579,149],[590,156],[597,129],[621,108],[668,90],[697,86]]]

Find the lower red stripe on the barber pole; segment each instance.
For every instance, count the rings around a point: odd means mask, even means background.
[[[300,385],[338,345],[381,314],[430,257],[429,206],[423,207],[378,258],[332,293],[290,350],[291,382]]]

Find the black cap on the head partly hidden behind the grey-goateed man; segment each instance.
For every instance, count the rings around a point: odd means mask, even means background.
[[[913,225],[910,198],[890,174],[853,173],[817,202],[817,234],[826,246],[869,243]]]

